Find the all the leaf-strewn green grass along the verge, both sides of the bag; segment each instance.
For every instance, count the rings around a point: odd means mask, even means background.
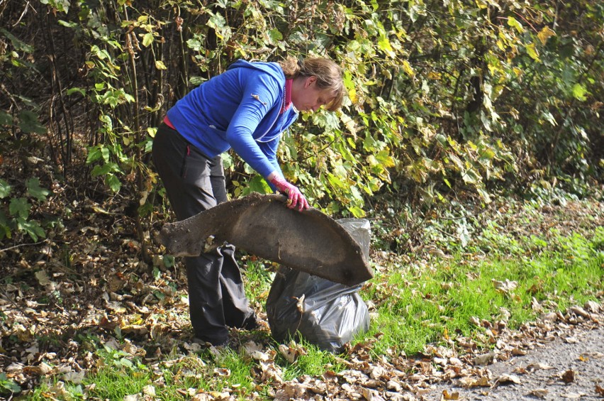
[[[457,336],[488,347],[486,329],[476,322],[503,320],[514,329],[535,319],[539,312],[532,307],[534,300],[545,312],[564,312],[572,304],[595,300],[604,290],[603,266],[602,227],[586,238],[581,234],[563,236],[557,231],[544,236],[513,236],[498,234],[493,226],[471,253],[459,248],[451,258],[381,266],[386,273],[377,274],[361,292],[364,300],[377,306],[369,332],[357,336],[356,341],[376,339],[371,346],[376,356],[388,351],[412,355],[427,344]],[[248,295],[257,305],[266,302],[274,275],[271,270],[261,262],[247,263]],[[501,285],[503,289],[498,289]],[[270,349],[284,380],[344,368],[337,356],[305,343],[301,346],[306,355],[288,363],[279,355],[278,345]],[[160,400],[188,399],[189,388],[230,388],[240,400],[249,399],[252,392],[269,397],[268,386],[258,386],[253,379],[259,374],[259,362],[236,351],[220,356],[207,350],[189,355],[174,351],[153,365],[123,351],[105,349],[97,351],[97,356],[101,359],[99,369],[82,385],[65,388],[73,399],[82,399],[82,388],[88,386],[89,399],[123,400],[126,395],[144,392],[145,386],[157,386],[158,380],[162,388],[156,399]],[[53,380],[43,383],[30,399],[46,399],[43,394],[56,384]]]

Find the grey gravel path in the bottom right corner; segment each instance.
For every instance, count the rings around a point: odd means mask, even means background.
[[[423,400],[604,400],[604,324],[577,328],[485,369],[491,383],[497,378],[505,383],[492,388],[440,385]]]

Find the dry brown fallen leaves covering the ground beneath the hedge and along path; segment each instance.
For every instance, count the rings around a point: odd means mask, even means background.
[[[589,213],[578,204],[570,207],[575,208],[571,214]],[[86,375],[104,367],[96,353],[99,348],[122,353],[123,363],[135,356],[141,358],[154,372],[156,380],[152,385],[124,400],[155,399],[162,387],[162,369],[171,366],[184,367],[177,375],[181,378],[202,374],[229,377],[230,370],[196,355],[201,346],[192,339],[186,282],[178,264],[167,267],[169,263],[155,255],[154,268],[147,268],[140,260],[140,243],[132,239],[133,222],[125,217],[116,220],[123,211],[115,205],[86,200],[79,209],[108,212],[74,215],[65,222],[63,236],[53,236],[38,248],[0,251],[4,266],[1,273],[12,278],[0,289],[0,371],[6,378],[24,392],[33,390],[42,380],[55,378],[56,383],[50,385],[45,396],[69,399],[72,396],[67,383],[83,383]],[[561,229],[568,226],[566,229],[572,230],[579,224],[583,220],[571,224],[559,221]],[[393,257],[374,254],[374,258]],[[503,295],[513,297],[517,283],[493,280],[493,285]],[[603,299],[603,295],[599,294],[598,299]],[[255,307],[262,317],[262,305]],[[534,300],[532,307],[538,310],[542,302]],[[341,356],[335,357],[345,367],[343,370],[326,368],[322,375],[301,375],[293,380],[284,380],[276,359],[282,357],[287,363],[296,363],[299,356],[306,354],[303,346],[293,342],[279,344],[275,351],[267,340],[266,322],[256,332],[234,330],[231,335],[243,357],[254,361],[250,372],[253,382],[257,388],[268,388],[267,394],[274,400],[425,400],[437,385],[479,388],[488,394],[488,390],[498,386],[521,385],[522,376],[537,370],[554,369],[532,363],[518,367],[515,374],[494,377],[489,366],[522,356],[552,339],[571,342],[576,327],[601,327],[602,312],[601,304],[589,301],[570,307],[566,314],[544,313],[537,322],[524,324],[517,331],[508,329],[505,313],[500,321],[476,319],[473,323],[486,329],[490,350],[473,339],[447,334],[442,341],[445,345],[428,345],[417,356],[402,352],[376,356],[372,351],[376,339],[365,339],[347,346]],[[221,358],[220,350],[213,352],[215,358]],[[594,351],[583,358],[601,356]],[[573,382],[574,371],[562,372],[558,380]],[[190,400],[235,400],[239,390],[236,384],[232,387],[211,392],[182,388],[178,392]],[[94,384],[84,388],[84,392],[91,390]],[[601,396],[603,391],[595,384],[592,394]],[[527,394],[547,397],[548,390],[534,388]],[[566,394],[569,398],[574,395]],[[262,399],[257,391],[246,397]],[[457,391],[443,390],[440,399],[462,398]]]

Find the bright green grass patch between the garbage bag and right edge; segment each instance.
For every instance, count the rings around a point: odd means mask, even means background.
[[[590,239],[578,234],[552,238],[549,248],[539,238],[527,238],[541,249],[517,258],[496,253],[493,259],[467,263],[457,255],[452,261],[390,266],[363,292],[379,305],[367,335],[380,339],[377,353],[391,347],[417,353],[445,336],[480,341],[484,328],[476,326],[476,319],[518,328],[540,313],[534,300],[541,312],[583,305],[604,289],[603,237],[600,228]]]

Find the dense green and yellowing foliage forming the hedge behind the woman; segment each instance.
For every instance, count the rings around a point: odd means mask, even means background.
[[[158,123],[237,58],[344,67],[342,111],[303,115],[281,147],[285,174],[330,214],[584,194],[604,170],[603,17],[593,0],[3,1],[0,240],[45,236],[57,182],[101,202],[119,192],[142,236],[161,204]],[[233,196],[267,189],[225,163]]]

